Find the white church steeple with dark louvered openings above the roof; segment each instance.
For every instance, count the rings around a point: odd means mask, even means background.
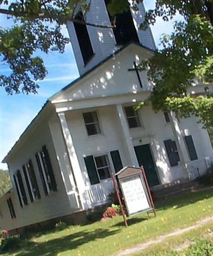
[[[109,0],[92,0],[86,14],[87,23],[111,26],[108,12]],[[75,54],[80,75],[99,64],[113,52],[130,41],[140,43],[150,49],[155,49],[150,28],[140,30],[138,27],[144,20],[145,9],[138,4],[138,11],[130,10],[116,15],[116,28],[92,27],[69,22],[68,32]],[[77,19],[83,20],[83,13],[78,12]]]

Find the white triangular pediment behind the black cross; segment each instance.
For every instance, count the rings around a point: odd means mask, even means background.
[[[153,51],[132,43],[91,72],[79,77],[50,100],[56,103],[147,91],[151,88],[151,84],[147,80],[146,71],[140,72],[143,85],[141,88],[136,71],[128,71],[128,69],[134,68],[134,61],[140,63],[142,59],[148,59],[152,55]]]

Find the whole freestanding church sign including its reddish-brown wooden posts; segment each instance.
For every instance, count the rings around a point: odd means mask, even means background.
[[[113,175],[112,180],[126,227],[126,215],[121,203],[117,183],[122,198],[124,199],[127,216],[133,216],[142,212],[148,213],[150,211],[153,211],[154,216],[156,216],[152,195],[143,166],[141,168],[124,167],[116,174],[116,177],[118,182],[116,182]]]

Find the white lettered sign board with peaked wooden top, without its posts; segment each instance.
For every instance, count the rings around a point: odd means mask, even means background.
[[[128,216],[153,211],[152,202],[141,168],[125,167],[116,176]]]

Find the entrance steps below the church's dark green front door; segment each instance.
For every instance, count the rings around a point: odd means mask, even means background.
[[[171,183],[158,185],[152,188],[152,192],[155,199],[167,198],[178,193],[187,191],[195,191],[203,189],[204,186],[200,185],[197,181],[189,179],[181,179]]]

